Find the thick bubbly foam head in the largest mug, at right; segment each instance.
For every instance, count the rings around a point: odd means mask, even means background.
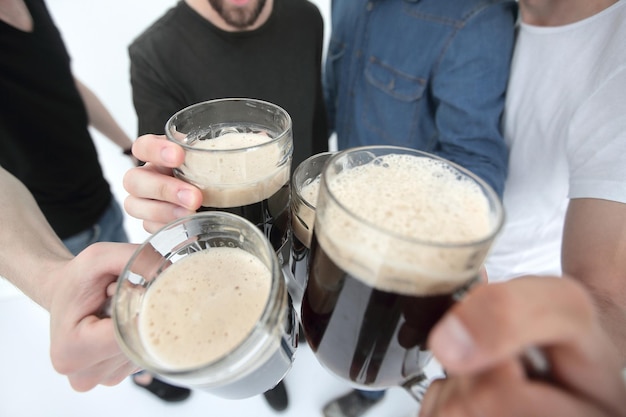
[[[336,264],[368,285],[431,295],[477,274],[489,246],[481,241],[494,224],[478,184],[454,167],[391,154],[344,170],[327,186],[360,221],[328,200],[318,208],[316,236]]]

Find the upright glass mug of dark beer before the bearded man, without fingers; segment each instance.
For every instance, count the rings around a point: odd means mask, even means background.
[[[200,210],[246,218],[264,231],[282,258],[289,238],[289,114],[260,100],[210,100],[174,114],[165,134],[185,150],[174,175],[202,190]]]

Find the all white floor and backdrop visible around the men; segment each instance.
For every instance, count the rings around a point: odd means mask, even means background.
[[[79,2],[48,0],[73,58],[75,74],[100,96],[122,126],[134,137],[135,113],[128,84],[126,46],[137,33],[175,0],[110,0]],[[325,17],[329,0],[316,0]],[[119,150],[95,135],[105,174],[118,200],[123,201],[124,172],[130,162]],[[147,237],[139,222],[127,218],[133,242]],[[117,387],[74,392],[49,360],[48,315],[0,278],[0,417],[157,417],[273,416],[262,397],[229,401],[194,392],[180,404],[166,404],[129,380]],[[310,349],[299,348],[286,378],[290,397],[284,416],[321,416],[321,406],[349,389],[325,372]],[[409,417],[417,404],[401,389],[389,391],[368,417]]]

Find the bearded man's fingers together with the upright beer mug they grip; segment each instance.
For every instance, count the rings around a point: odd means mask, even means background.
[[[261,100],[209,100],[172,115],[165,133],[171,144],[152,137],[150,146],[144,139],[133,147],[148,163],[125,177],[128,213],[153,232],[195,210],[228,211],[256,224],[281,252],[289,236],[289,114]]]

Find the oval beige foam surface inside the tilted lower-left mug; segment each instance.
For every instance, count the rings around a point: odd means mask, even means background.
[[[270,270],[239,248],[188,255],[161,273],[146,292],[139,333],[168,369],[206,365],[237,347],[261,317]]]

